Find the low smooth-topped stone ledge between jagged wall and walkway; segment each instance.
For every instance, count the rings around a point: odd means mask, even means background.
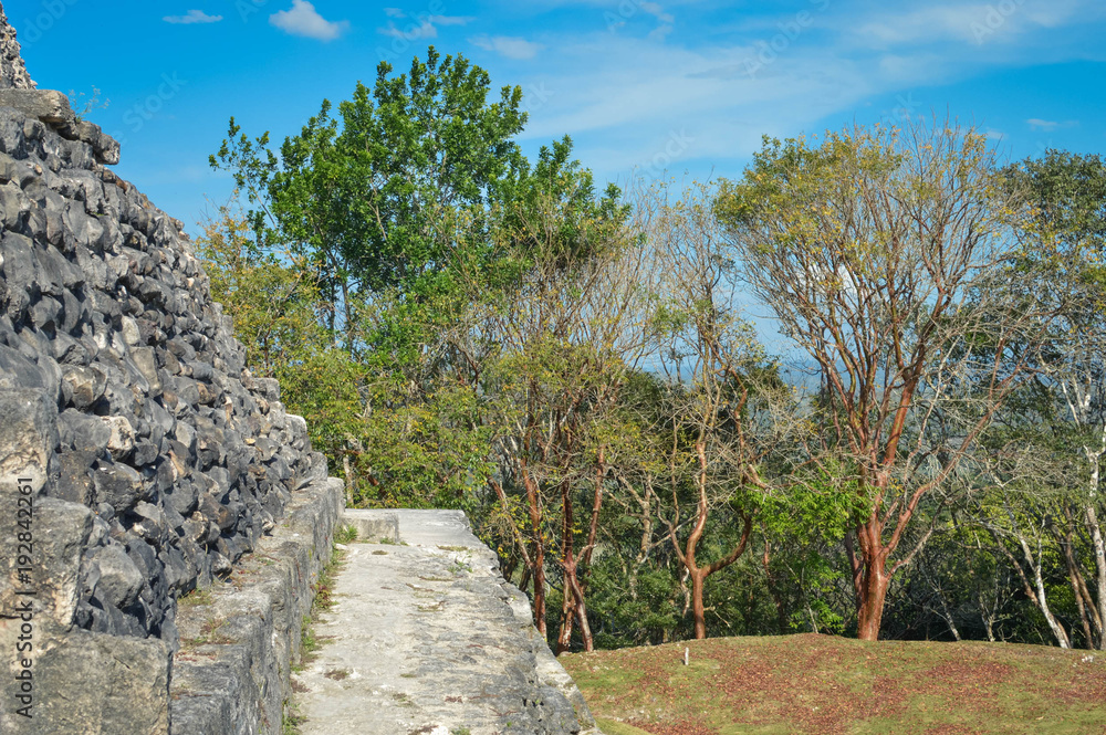
[[[314,582],[330,561],[344,490],[333,477],[293,494],[272,536],[229,580],[179,603],[169,682],[173,734],[279,735]]]

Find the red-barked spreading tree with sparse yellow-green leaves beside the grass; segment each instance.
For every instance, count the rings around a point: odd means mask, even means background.
[[[919,505],[1019,385],[1009,347],[1040,324],[1003,287],[1022,219],[997,175],[971,129],[855,128],[766,139],[717,200],[745,284],[821,370],[826,456],[869,508],[846,537],[862,639],[928,538]]]

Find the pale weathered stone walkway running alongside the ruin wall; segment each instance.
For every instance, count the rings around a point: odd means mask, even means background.
[[[361,539],[313,626],[322,648],[293,674],[304,735],[598,733],[462,513],[346,511],[344,522]]]

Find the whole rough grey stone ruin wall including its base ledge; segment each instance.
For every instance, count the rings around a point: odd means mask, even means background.
[[[118,160],[0,6],[0,733],[280,733],[342,483]]]

